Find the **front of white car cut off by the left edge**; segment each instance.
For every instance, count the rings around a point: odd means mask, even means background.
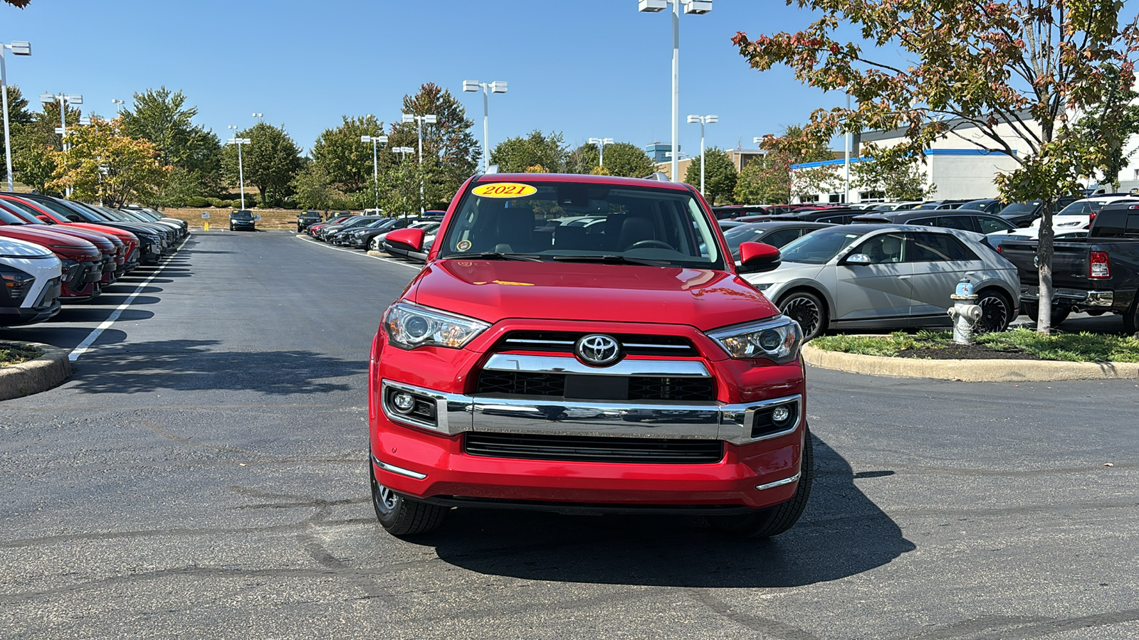
[[[42,322],[59,313],[63,265],[51,251],[0,238],[0,326]]]

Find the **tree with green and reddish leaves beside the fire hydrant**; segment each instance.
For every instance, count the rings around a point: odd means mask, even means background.
[[[754,40],[739,32],[732,42],[757,71],[786,65],[813,88],[857,99],[852,109],[816,110],[808,124],[816,138],[898,129],[904,142],[888,153],[913,157],[953,136],[1017,163],[995,182],[1007,202],[1043,200],[1038,330],[1048,333],[1054,205],[1111,157],[1109,146],[1089,145],[1073,130],[1070,114],[1100,101],[1111,68],[1133,75],[1139,30],[1134,19],[1120,23],[1123,2],[800,0],[798,6],[814,17],[804,30]],[[844,41],[851,32],[862,40]],[[877,58],[891,50],[900,50],[907,63]],[[1123,110],[1116,105],[1103,114],[1103,126],[1117,126]],[[970,134],[962,134],[964,128]],[[1129,323],[1137,321],[1132,317]]]

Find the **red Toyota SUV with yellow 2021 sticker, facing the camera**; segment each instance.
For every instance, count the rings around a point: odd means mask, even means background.
[[[778,249],[740,249],[737,269],[688,184],[468,180],[372,342],[379,522],[407,535],[498,507],[789,528],[812,478],[802,333],[737,274]]]

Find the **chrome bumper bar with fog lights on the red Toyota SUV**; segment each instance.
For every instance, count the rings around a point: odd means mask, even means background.
[[[388,389],[405,391],[435,404],[435,424],[403,415],[388,405]],[[803,421],[802,395],[726,404],[721,402],[576,401],[564,399],[476,397],[382,380],[380,405],[388,420],[456,435],[465,432],[722,440],[748,444],[793,433]],[[796,420],[788,428],[752,437],[755,412],[795,402]]]

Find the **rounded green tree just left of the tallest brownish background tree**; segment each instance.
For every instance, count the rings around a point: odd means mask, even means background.
[[[384,123],[374,115],[343,116],[343,121],[339,126],[326,129],[317,138],[312,146],[312,161],[341,191],[354,194],[367,189],[371,196],[375,190],[371,142],[361,142],[360,137],[383,133]]]

